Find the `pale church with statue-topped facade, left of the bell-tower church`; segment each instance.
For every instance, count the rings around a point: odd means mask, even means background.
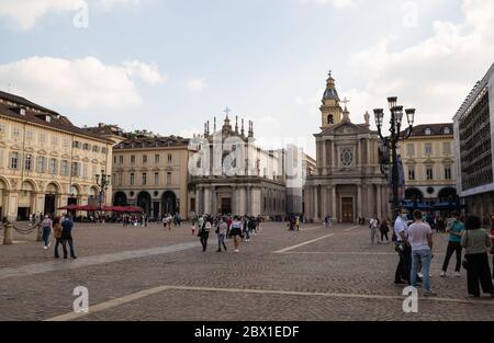
[[[265,151],[254,145],[254,124],[247,132],[244,119],[236,117],[232,127],[226,117],[218,130],[204,125],[204,136],[195,137],[198,167],[192,178],[199,214],[236,214],[251,216],[283,216],[285,214],[284,151]],[[202,140],[202,144],[200,142]],[[232,157],[232,153],[237,153]],[[234,170],[228,170],[228,167]]]

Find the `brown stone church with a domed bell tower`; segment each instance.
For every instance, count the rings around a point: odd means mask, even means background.
[[[345,103],[345,108],[340,103]],[[329,75],[323,96],[322,127],[316,138],[317,164],[304,190],[305,217],[321,221],[330,216],[338,222],[389,215],[389,184],[381,173],[380,138],[363,124],[350,121],[348,101],[340,101]]]

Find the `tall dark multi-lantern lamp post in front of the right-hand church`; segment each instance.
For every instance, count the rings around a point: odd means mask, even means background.
[[[378,126],[378,133],[379,137],[381,138],[383,146],[384,146],[384,152],[390,153],[391,150],[391,164],[392,164],[392,175],[391,175],[391,184],[393,187],[393,210],[400,208],[400,201],[398,201],[398,183],[400,183],[400,175],[398,175],[398,161],[397,161],[397,152],[396,147],[400,141],[408,139],[412,135],[412,130],[414,128],[414,121],[415,121],[415,108],[408,108],[405,110],[406,113],[406,119],[408,122],[408,128],[404,134],[402,134],[402,123],[403,123],[403,106],[397,105],[397,98],[392,96],[388,98],[388,103],[391,111],[391,127],[390,127],[390,136],[383,137],[382,135],[382,124],[384,118],[384,110],[377,108],[374,110],[374,117],[375,117],[375,124]],[[389,158],[389,156],[388,156]],[[390,163],[386,162],[388,159],[384,159],[384,162],[382,163]],[[382,165],[383,169],[385,165]]]

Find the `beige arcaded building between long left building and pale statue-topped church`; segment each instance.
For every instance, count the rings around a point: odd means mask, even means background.
[[[189,139],[133,135],[113,150],[113,205],[139,206],[151,218],[194,209],[189,199]]]

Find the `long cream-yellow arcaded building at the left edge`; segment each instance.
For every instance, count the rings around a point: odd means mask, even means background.
[[[0,92],[1,216],[24,220],[60,214],[70,204],[109,204],[99,198],[96,175],[111,171],[113,144],[55,111]]]

